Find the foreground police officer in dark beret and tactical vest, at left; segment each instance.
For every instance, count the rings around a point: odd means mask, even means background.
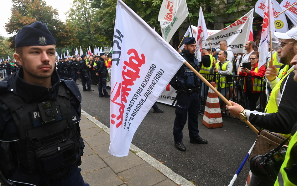
[[[81,176],[81,94],[55,71],[46,24],[15,37],[21,69],[0,82],[0,179],[4,185],[87,186]]]

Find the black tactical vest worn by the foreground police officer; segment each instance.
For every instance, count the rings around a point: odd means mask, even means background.
[[[56,100],[26,104],[12,91],[0,93],[2,108],[9,109],[18,130],[19,140],[9,142],[14,146],[13,154],[19,157],[13,163],[28,173],[40,175],[41,182],[52,180],[53,173],[56,179],[65,176],[57,175],[57,171],[69,173],[82,151],[79,125],[72,121],[76,118],[72,119],[70,90],[62,83]]]

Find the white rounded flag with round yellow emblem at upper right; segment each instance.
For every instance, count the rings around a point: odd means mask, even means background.
[[[276,16],[277,14],[283,11],[283,9],[281,8],[281,6],[276,0],[271,0],[271,3],[272,3],[273,16]],[[265,10],[265,0],[258,0],[255,5],[255,12],[258,13],[262,18],[264,18],[264,12],[265,12],[264,10]],[[284,13],[274,18],[273,25],[275,26],[275,31],[277,32],[285,33],[289,30],[287,18]]]

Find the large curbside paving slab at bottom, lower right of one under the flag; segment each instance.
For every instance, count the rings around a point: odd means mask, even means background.
[[[153,186],[167,179],[149,163],[143,163],[117,175],[121,176],[128,186]]]

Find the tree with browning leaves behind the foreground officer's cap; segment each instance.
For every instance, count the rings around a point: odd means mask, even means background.
[[[12,0],[13,8],[6,31],[14,34],[10,39],[10,48],[14,48],[14,38],[23,26],[40,21],[46,23],[50,33],[56,40],[57,47],[70,45],[70,30],[67,24],[58,18],[58,12],[44,0]]]

